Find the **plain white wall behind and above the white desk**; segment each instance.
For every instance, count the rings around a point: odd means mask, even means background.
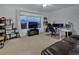
[[[71,21],[74,24],[74,30],[79,33],[79,6],[72,6],[58,11],[54,11],[48,15],[49,22],[66,23]]]

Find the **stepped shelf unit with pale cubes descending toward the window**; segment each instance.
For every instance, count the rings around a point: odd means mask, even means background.
[[[6,19],[6,40],[20,37],[17,28],[14,28],[12,19]]]

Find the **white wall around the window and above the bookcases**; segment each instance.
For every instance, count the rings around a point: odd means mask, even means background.
[[[14,26],[17,27],[18,17],[19,17],[19,14],[20,14],[20,13],[17,12],[18,10],[26,11],[25,12],[26,14],[31,12],[33,14],[40,15],[41,17],[43,17],[43,14],[41,12],[33,11],[33,10],[29,10],[29,9],[24,9],[24,8],[19,8],[19,7],[14,7],[14,6],[10,6],[10,5],[0,5],[0,16],[4,16],[6,18],[12,19]],[[20,29],[20,33],[21,33],[22,36],[24,36],[26,34],[26,30],[21,30],[21,28],[18,28],[18,29]],[[40,28],[40,32],[41,31],[43,31],[43,25]]]

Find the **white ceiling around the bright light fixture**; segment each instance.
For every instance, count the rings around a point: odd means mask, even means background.
[[[39,12],[50,13],[59,9],[75,6],[77,4],[51,4],[50,6],[47,6],[45,8],[43,8],[42,4],[11,4],[11,5]]]

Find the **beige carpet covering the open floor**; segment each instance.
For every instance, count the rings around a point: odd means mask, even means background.
[[[0,49],[0,55],[40,55],[43,49],[57,41],[59,39],[46,33],[12,39],[5,42],[4,48]]]

